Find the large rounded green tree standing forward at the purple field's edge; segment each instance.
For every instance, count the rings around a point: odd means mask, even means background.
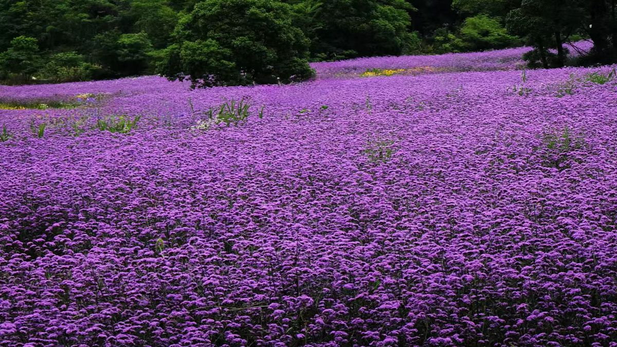
[[[309,40],[291,7],[270,0],[205,0],[183,17],[158,71],[194,86],[288,83],[312,77]]]

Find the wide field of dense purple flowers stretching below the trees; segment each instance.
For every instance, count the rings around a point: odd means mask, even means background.
[[[500,52],[0,86],[0,345],[617,346],[614,67]]]

